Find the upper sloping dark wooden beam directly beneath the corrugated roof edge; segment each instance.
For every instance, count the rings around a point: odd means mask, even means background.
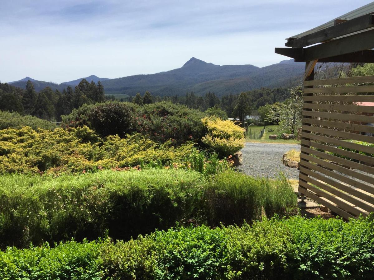
[[[328,27],[312,34],[305,35],[301,38],[294,39],[285,43],[286,47],[306,47],[323,41],[331,40],[340,36],[344,36],[353,32],[362,31],[364,29],[374,27],[374,16],[371,14],[359,16],[349,21]]]

